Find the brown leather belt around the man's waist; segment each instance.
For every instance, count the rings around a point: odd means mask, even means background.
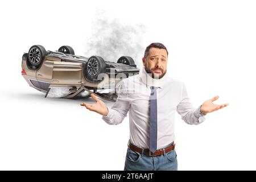
[[[129,148],[130,148],[130,150],[133,150],[135,152],[139,152],[139,153],[142,152],[142,148],[134,146],[131,143],[129,143]],[[160,150],[156,150],[154,153],[152,153],[147,148],[144,148],[143,154],[148,155],[148,156],[158,156],[158,155],[163,155],[164,151],[167,153],[167,152],[170,152],[170,151],[174,150],[174,148],[175,148],[175,143],[172,144],[171,146],[166,147],[166,148],[161,148]]]

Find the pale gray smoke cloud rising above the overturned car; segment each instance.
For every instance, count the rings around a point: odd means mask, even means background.
[[[144,24],[128,24],[99,13],[92,22],[92,35],[86,40],[85,55],[97,55],[113,62],[121,56],[131,56],[135,64],[140,65],[145,49],[142,46],[145,30]]]

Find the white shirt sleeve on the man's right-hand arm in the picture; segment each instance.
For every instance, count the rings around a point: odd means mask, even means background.
[[[193,107],[188,98],[187,88],[183,84],[182,99],[177,105],[177,113],[181,115],[181,119],[189,125],[198,125],[205,121],[206,114],[201,113],[200,107]]]

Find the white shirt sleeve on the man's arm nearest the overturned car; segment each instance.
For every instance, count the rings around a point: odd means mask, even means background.
[[[102,116],[102,119],[109,125],[122,123],[130,109],[130,102],[127,99],[129,96],[124,82],[118,82],[116,88],[118,93],[117,101],[115,101],[115,104],[111,108],[108,107],[108,115]]]

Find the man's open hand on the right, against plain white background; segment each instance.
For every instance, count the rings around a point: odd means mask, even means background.
[[[203,103],[203,105],[200,108],[201,113],[207,114],[212,113],[213,111],[222,109],[223,107],[228,106],[229,104],[213,104],[213,101],[216,101],[218,99],[218,96],[213,97],[210,100],[207,100]]]

